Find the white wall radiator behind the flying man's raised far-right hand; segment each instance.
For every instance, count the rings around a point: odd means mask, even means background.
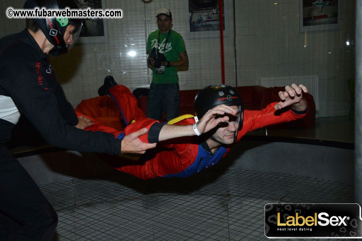
[[[260,85],[264,87],[274,86],[286,86],[291,84],[302,84],[307,87],[308,93],[310,93],[314,102],[316,103],[316,111],[319,110],[319,87],[318,87],[318,75],[307,76],[289,76],[289,77],[274,77],[274,78],[260,78]]]

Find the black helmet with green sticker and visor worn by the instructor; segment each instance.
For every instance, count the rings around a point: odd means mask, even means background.
[[[26,0],[24,4],[25,9],[37,7],[45,7],[46,9],[65,9],[66,7],[71,9],[78,8],[72,0]],[[39,26],[40,30],[44,33],[49,42],[54,45],[54,48],[52,48],[49,53],[55,56],[65,54],[70,51],[70,49],[75,45],[83,26],[83,20],[81,19],[50,17],[34,18],[33,20]],[[74,26],[72,34],[69,33],[69,26]],[[72,43],[67,44],[66,41],[64,41],[65,33],[70,34],[69,37],[73,38]]]

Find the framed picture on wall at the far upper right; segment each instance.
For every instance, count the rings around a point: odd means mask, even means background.
[[[299,32],[340,27],[341,0],[299,0]]]

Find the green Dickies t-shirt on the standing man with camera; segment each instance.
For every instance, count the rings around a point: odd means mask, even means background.
[[[165,53],[164,47],[168,32],[160,34],[160,53],[166,56],[167,61],[173,62],[179,59],[178,54],[186,51],[186,47],[182,36],[172,29],[170,29],[170,31],[171,33],[167,41]],[[159,32],[160,30],[157,29],[156,31],[150,33],[150,35],[148,36],[146,47],[147,51],[152,51],[153,47],[157,48]],[[156,74],[156,68],[152,67],[152,83],[166,84],[167,82],[169,84],[178,83],[177,67],[165,67],[164,74]]]

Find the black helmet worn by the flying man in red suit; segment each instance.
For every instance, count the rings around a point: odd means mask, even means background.
[[[221,104],[236,105],[240,112],[244,110],[244,102],[236,89],[230,85],[210,85],[197,93],[194,103],[195,114],[201,119],[208,110]]]

